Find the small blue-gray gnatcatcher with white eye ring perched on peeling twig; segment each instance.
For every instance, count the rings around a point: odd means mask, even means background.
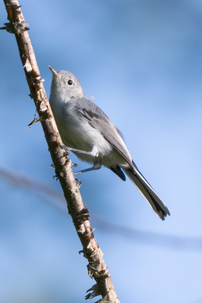
[[[133,162],[118,128],[88,100],[75,75],[49,68],[53,74],[49,101],[62,141],[78,158],[93,164],[77,173],[104,165],[125,181],[125,172],[164,220],[170,212]]]

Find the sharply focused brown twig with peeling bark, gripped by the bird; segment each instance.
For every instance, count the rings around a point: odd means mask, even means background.
[[[25,22],[17,0],[4,0],[4,3],[9,22],[5,23],[5,27],[1,29],[15,34],[25,76],[39,115],[39,118],[34,119],[31,124],[36,121],[41,122],[56,175],[64,191],[69,214],[83,246],[82,252],[89,262],[87,265],[88,275],[96,281],[96,284],[88,289],[88,291],[92,292],[86,295],[86,299],[101,295],[102,299],[98,301],[100,303],[118,303],[120,301],[111,281],[107,265],[104,262],[103,253],[93,235],[93,229],[88,219],[88,209],[83,204],[79,185],[76,184],[72,173],[71,160],[63,148],[63,143],[46,96],[42,83],[43,79],[41,79],[28,35],[28,24]]]

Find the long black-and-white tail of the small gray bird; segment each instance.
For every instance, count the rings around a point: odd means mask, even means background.
[[[165,217],[167,215],[170,216],[170,212],[167,209],[166,205],[157,195],[151,185],[147,182],[147,180],[143,177],[134,162],[133,169],[125,167],[122,169],[162,220],[165,220]]]

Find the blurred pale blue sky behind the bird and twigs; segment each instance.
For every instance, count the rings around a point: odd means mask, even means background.
[[[20,5],[47,95],[48,65],[73,72],[84,93],[94,95],[121,130],[137,167],[171,212],[162,222],[130,180],[123,182],[107,168],[80,176],[120,301],[201,302],[202,249],[164,245],[152,237],[202,238],[201,1],[23,0]],[[1,26],[6,17],[2,1]],[[6,31],[0,36],[0,165],[61,192],[41,125],[27,126],[35,106],[15,36]],[[71,159],[79,169],[88,167],[74,155]],[[3,301],[84,302],[94,281],[78,254],[81,244],[69,215],[34,189],[5,178],[0,188]],[[123,236],[96,216],[151,233],[149,241],[141,240],[141,233]]]

